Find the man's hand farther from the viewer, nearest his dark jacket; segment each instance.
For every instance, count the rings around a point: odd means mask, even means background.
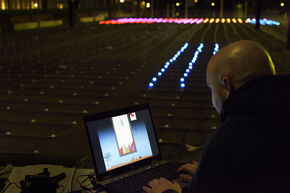
[[[181,174],[179,174],[179,178],[185,182],[191,182],[192,176],[195,175],[197,167],[198,163],[196,161],[192,161],[192,164],[188,163],[180,166],[177,169],[177,173],[181,172]]]

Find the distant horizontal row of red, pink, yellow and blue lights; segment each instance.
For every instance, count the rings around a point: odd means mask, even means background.
[[[100,21],[99,24],[145,24],[145,23],[177,23],[177,24],[201,24],[201,23],[256,23],[256,19],[246,19],[243,21],[241,18],[121,18],[116,20]],[[279,22],[260,19],[261,25],[280,25]]]

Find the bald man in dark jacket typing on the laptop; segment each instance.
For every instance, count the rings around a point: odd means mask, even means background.
[[[181,166],[193,193],[290,192],[290,76],[277,76],[268,52],[253,41],[221,49],[207,67],[207,85],[222,123],[199,163]],[[147,193],[180,193],[161,178]]]

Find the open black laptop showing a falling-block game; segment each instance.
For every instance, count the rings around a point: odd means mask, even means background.
[[[143,192],[154,178],[177,178],[181,163],[160,164],[161,153],[148,104],[83,118],[98,181],[109,193]]]

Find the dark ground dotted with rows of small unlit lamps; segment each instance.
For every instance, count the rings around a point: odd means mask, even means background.
[[[262,44],[278,74],[290,72],[286,25],[78,25],[1,34],[0,163],[90,167],[82,116],[148,102],[166,160],[199,159],[219,125],[205,84],[214,43]],[[156,87],[148,83],[185,42]],[[203,42],[190,83],[178,80]],[[188,145],[194,145],[188,151]]]

